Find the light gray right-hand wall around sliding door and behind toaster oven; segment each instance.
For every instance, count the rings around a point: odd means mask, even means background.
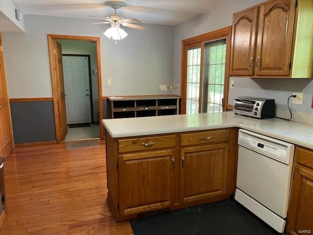
[[[196,18],[175,27],[174,48],[174,84],[180,84],[181,76],[181,40],[203,33],[211,32],[232,24],[234,12],[253,6],[264,0],[229,0]],[[230,78],[235,80],[235,89],[229,90],[228,103],[240,95],[275,98],[278,109],[287,109],[287,98],[292,92],[303,92],[303,105],[292,105],[292,110],[313,113],[311,108],[313,96],[312,79],[251,79]],[[229,86],[230,87],[230,86]],[[176,94],[179,94],[177,92]]]

